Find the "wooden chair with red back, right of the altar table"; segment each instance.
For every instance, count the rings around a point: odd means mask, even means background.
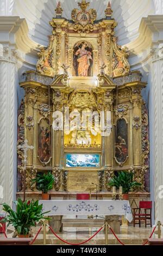
[[[145,227],[147,228],[147,225],[151,225],[152,227],[152,201],[140,201],[139,208],[134,208],[134,227],[135,224],[139,224],[139,227],[141,227],[141,221],[145,221]],[[147,223],[147,220],[150,221],[150,223]],[[136,223],[136,221],[139,221],[139,223]]]

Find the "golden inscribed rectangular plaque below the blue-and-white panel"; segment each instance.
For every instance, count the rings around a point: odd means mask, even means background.
[[[97,172],[68,172],[68,191],[75,192],[90,192],[89,188],[92,187],[96,191],[98,184],[98,173]]]

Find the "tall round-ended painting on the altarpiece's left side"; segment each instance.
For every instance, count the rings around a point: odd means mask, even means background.
[[[51,156],[51,126],[48,119],[41,119],[38,127],[38,156],[42,163],[48,163]]]

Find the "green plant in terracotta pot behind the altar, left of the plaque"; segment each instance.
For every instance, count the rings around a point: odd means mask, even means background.
[[[54,184],[54,176],[51,172],[48,174],[39,174],[33,182],[36,182],[37,190],[42,191],[42,200],[48,200],[49,194],[48,191],[51,191]]]

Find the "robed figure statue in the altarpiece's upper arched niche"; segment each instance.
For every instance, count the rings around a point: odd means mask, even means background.
[[[89,76],[89,69],[92,65],[92,53],[87,48],[87,42],[82,42],[74,53],[74,69],[77,76]]]

